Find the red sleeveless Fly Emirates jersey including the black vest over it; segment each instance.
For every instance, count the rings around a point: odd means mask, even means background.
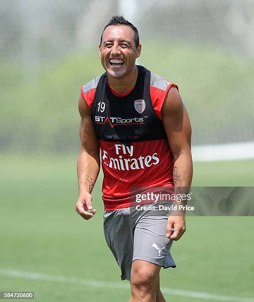
[[[137,67],[136,85],[124,95],[113,91],[106,73],[81,87],[99,138],[105,210],[129,207],[131,188],[173,187],[161,109],[169,88],[178,87]]]

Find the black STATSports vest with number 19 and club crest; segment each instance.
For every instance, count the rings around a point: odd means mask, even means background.
[[[135,87],[127,96],[116,96],[104,73],[97,84],[91,118],[104,141],[147,141],[167,138],[163,123],[154,111],[150,96],[151,72],[137,66]]]

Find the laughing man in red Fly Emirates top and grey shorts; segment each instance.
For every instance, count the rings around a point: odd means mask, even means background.
[[[190,187],[191,126],[178,87],[136,66],[140,53],[137,29],[123,16],[112,17],[99,45],[106,73],[83,86],[79,97],[75,210],[85,220],[96,213],[91,192],[101,149],[107,244],[122,280],[130,281],[130,301],[162,302],[160,269],[175,267],[169,250],[185,231],[185,213],[137,211],[131,188]]]

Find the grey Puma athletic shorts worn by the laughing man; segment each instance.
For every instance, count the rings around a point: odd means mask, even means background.
[[[163,203],[156,203],[157,206],[160,204]],[[164,268],[176,267],[170,254],[173,240],[166,237],[169,215],[168,210],[137,211],[135,206],[104,211],[105,239],[121,268],[122,280],[130,281],[134,260],[148,261]]]

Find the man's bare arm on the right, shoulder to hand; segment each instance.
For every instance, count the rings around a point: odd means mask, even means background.
[[[176,88],[169,89],[168,95],[162,107],[162,120],[167,134],[170,149],[173,154],[173,181],[176,193],[179,187],[191,186],[192,181],[192,157],[191,157],[191,125],[188,113],[182,103]],[[184,190],[178,190],[183,193]],[[178,240],[185,232],[185,212],[177,216],[169,216],[167,237]],[[174,228],[174,231],[171,230]]]

